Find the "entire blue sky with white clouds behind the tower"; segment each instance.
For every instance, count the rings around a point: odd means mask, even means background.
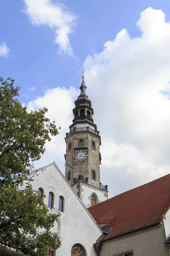
[[[65,172],[85,69],[109,197],[170,172],[170,1],[1,0],[0,76],[62,130],[36,167]]]

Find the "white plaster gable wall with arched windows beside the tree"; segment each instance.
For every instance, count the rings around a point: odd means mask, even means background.
[[[40,175],[35,177],[31,184],[35,190],[40,187],[44,189],[46,195],[44,203],[47,205],[49,192],[54,193],[54,212],[56,213],[59,196],[62,195],[65,198],[64,212],[61,213],[59,221],[51,229],[52,232],[59,234],[62,241],[56,255],[71,256],[72,246],[78,243],[85,247],[87,256],[96,256],[93,243],[101,236],[102,231],[54,163],[49,165],[45,172],[40,172]]]

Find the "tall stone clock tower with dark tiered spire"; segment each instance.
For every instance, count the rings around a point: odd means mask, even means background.
[[[81,93],[74,102],[73,124],[65,137],[65,178],[85,206],[90,207],[108,199],[108,186],[100,183],[101,138],[86,88],[83,75]]]

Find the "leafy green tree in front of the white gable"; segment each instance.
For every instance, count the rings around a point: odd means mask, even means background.
[[[46,255],[46,248],[61,244],[50,231],[59,213],[48,209],[29,182],[37,175],[33,162],[58,129],[45,116],[47,108],[26,111],[13,79],[0,82],[0,241],[32,256]],[[23,182],[26,189],[19,190]]]

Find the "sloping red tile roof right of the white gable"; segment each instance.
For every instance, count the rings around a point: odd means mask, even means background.
[[[163,219],[170,208],[170,174],[116,195],[88,210],[102,229],[113,226],[105,239]]]

